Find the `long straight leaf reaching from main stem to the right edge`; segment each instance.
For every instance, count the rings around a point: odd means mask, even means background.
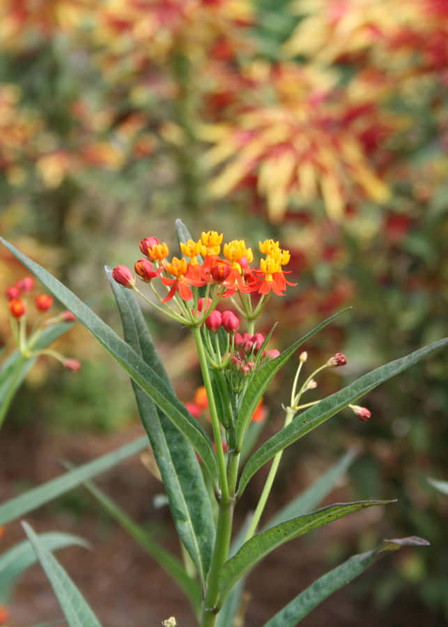
[[[354,403],[357,398],[364,396],[364,394],[370,392],[371,389],[378,387],[381,383],[403,372],[410,366],[413,366],[419,362],[420,359],[426,357],[426,355],[446,346],[447,343],[448,338],[439,340],[429,346],[415,350],[414,353],[410,353],[410,355],[406,355],[406,357],[401,357],[401,359],[389,362],[389,364],[385,364],[385,366],[380,366],[380,368],[365,374],[347,387],[339,390],[339,392],[324,398],[320,403],[314,405],[314,407],[302,412],[298,417],[293,419],[288,426],[282,428],[279,433],[276,433],[270,440],[265,442],[258,451],[249,458],[241,474],[238,497],[242,495],[249,479],[251,479],[257,470],[266,462],[275,456],[278,451],[283,451],[286,447],[290,446],[290,444],[293,444],[293,442],[302,438],[309,433],[309,431],[312,431],[337,414],[341,409],[350,403]],[[279,359],[279,357],[277,357],[277,359]]]

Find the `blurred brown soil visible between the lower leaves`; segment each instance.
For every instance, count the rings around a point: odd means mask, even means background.
[[[141,428],[134,427],[114,435],[56,435],[38,428],[23,433],[6,433],[4,437],[2,434],[0,501],[13,497],[25,487],[55,477],[61,472],[61,459],[83,463],[130,442],[141,433]],[[300,481],[291,477],[291,483],[294,484],[292,490]],[[99,484],[135,520],[150,520],[151,524],[157,525],[163,545],[178,553],[169,511],[153,507],[153,496],[162,492],[161,484],[147,472],[138,456],[107,472]],[[253,486],[254,494],[258,487]],[[76,547],[60,550],[58,559],[82,590],[102,625],[155,627],[174,615],[180,627],[193,627],[189,606],[168,575],[123,529],[107,520],[91,497],[82,490],[76,490],[72,495],[71,500],[65,497],[62,502],[56,501],[24,518],[38,532],[65,531],[92,543],[92,551]],[[339,490],[330,502],[342,499],[343,492]],[[350,544],[366,525],[378,526],[381,514],[372,513],[375,509],[323,527],[318,533],[284,545],[266,558],[247,581],[246,627],[261,627],[300,589],[330,568],[324,555],[327,545],[335,539]],[[1,540],[2,548],[23,538],[20,522],[11,522]],[[373,566],[364,576],[373,583],[385,572],[387,559]],[[31,627],[61,617],[52,589],[37,564],[20,578],[9,607],[10,627]],[[349,586],[328,598],[301,625],[442,627],[445,621],[428,615],[425,608],[412,601],[410,596],[397,598],[392,607],[378,609],[372,595],[361,597]]]

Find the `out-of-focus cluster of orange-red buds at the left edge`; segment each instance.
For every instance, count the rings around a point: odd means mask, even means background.
[[[58,359],[66,369],[73,372],[78,371],[81,364],[77,359],[63,357],[63,355],[51,349],[34,350],[40,334],[43,331],[43,327],[49,327],[61,322],[75,322],[76,318],[71,311],[61,311],[61,313],[52,316],[52,318],[46,318],[37,329],[36,325],[34,325],[31,334],[28,337],[26,336],[26,312],[28,309],[28,300],[32,297],[33,290],[34,281],[31,277],[24,277],[24,279],[17,281],[15,285],[8,287],[6,290],[13,336],[17,348],[19,348],[20,353],[22,353],[25,359],[31,359],[31,357],[37,357],[38,355],[49,355]],[[43,315],[47,314],[47,312],[52,309],[53,298],[49,294],[38,294],[33,297],[33,303],[38,314]]]

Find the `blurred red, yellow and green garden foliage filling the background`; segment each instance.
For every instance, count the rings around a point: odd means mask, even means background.
[[[291,250],[300,284],[263,320],[279,321],[279,348],[353,305],[306,347],[316,366],[348,357],[316,398],[446,334],[445,1],[3,0],[0,47],[1,235],[109,323],[103,265],[132,265],[149,235],[173,245],[182,217],[194,236],[213,228]],[[0,255],[4,290],[23,272]],[[0,316],[8,343],[6,307]],[[150,325],[190,398],[189,340]],[[86,332],[61,341],[82,370],[39,362],[8,428],[135,421],[125,377]],[[342,415],[325,438],[325,455],[359,447],[356,497],[399,497],[392,532],[432,544],[380,582],[364,578],[360,594],[374,586],[387,604],[411,589],[434,616],[448,616],[447,503],[426,477],[447,479],[447,370],[432,357],[369,396],[369,424]],[[289,385],[285,373],[265,399],[272,428]],[[319,458],[321,434],[307,442],[304,460]],[[297,449],[286,452],[298,472]]]

